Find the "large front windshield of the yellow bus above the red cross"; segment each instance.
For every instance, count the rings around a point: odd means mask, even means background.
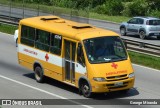
[[[126,50],[118,36],[86,39],[84,46],[90,63],[106,63],[127,59]]]

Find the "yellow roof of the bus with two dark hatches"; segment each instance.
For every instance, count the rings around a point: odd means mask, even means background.
[[[38,16],[25,18],[20,21],[21,25],[45,30],[76,40],[84,40],[102,36],[118,36],[117,33],[94,27],[85,23],[73,22],[57,16]]]

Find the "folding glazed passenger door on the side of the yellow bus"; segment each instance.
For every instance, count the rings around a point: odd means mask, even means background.
[[[65,81],[75,82],[75,52],[76,43],[68,40],[64,41],[64,78]]]

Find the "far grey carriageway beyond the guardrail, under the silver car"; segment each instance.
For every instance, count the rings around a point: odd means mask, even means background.
[[[33,9],[28,10],[25,8],[25,10],[23,11],[23,9],[21,8],[14,8],[14,7],[10,8],[9,6],[0,5],[0,15],[8,15],[8,16],[18,17],[18,18],[27,18],[27,17],[37,16],[37,15],[52,15],[52,14],[53,14],[53,10],[51,10],[50,13],[45,13],[45,12],[38,12],[37,10],[33,10]],[[107,22],[103,20],[95,20],[95,19],[76,18],[76,17],[71,17],[69,15],[60,14],[56,11],[54,12],[54,14],[58,14],[58,16],[66,19],[89,23],[96,27],[109,29],[119,33],[118,23],[111,23],[111,22]],[[155,37],[149,38],[147,40],[141,40],[139,36],[128,35],[128,36],[122,36],[122,38],[160,45],[160,40],[157,40]]]

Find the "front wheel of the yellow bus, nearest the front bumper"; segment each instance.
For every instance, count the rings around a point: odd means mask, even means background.
[[[87,82],[83,82],[81,84],[81,92],[83,94],[84,97],[86,98],[90,98],[92,93],[91,93],[91,88],[89,86],[89,84]]]

